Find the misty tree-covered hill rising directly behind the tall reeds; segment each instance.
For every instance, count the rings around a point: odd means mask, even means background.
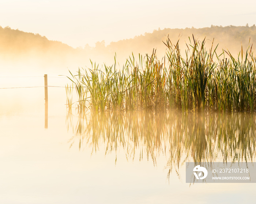
[[[241,44],[244,49],[249,45],[256,42],[256,26],[211,26],[206,28],[185,28],[185,29],[170,29],[165,28],[163,30],[154,30],[152,33],[145,33],[144,35],[135,36],[131,39],[119,40],[118,42],[111,42],[105,46],[105,42],[97,42],[95,47],[84,47],[84,52],[87,56],[93,58],[95,55],[101,55],[102,60],[108,58],[113,59],[114,54],[117,54],[117,59],[124,60],[129,55],[138,55],[138,53],[145,55],[151,54],[153,48],[157,49],[159,58],[162,58],[166,52],[166,46],[163,42],[166,42],[167,37],[173,44],[176,44],[179,40],[179,46],[181,52],[187,49],[185,43],[189,44],[189,37],[192,39],[192,34],[196,39],[203,40],[206,38],[206,45],[211,46],[214,39],[214,46],[218,45],[218,53],[222,52],[222,49],[229,50],[231,54],[237,56],[241,51]],[[112,60],[113,62],[113,60]]]

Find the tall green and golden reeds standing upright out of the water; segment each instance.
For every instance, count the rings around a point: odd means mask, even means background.
[[[93,111],[167,110],[194,111],[255,111],[256,56],[252,46],[234,57],[228,50],[217,53],[214,40],[209,49],[206,38],[189,38],[187,50],[180,50],[179,41],[169,37],[160,60],[156,51],[136,61],[130,56],[122,68],[106,64],[99,68],[79,68],[67,76],[67,104],[71,107],[72,87],[78,96],[80,113]],[[185,52],[185,55],[181,55]],[[184,57],[185,56],[185,57]]]

